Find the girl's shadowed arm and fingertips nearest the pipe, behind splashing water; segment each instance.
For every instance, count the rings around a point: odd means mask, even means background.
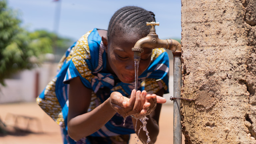
[[[163,97],[163,94],[164,94],[164,89],[161,89],[156,93],[157,96],[161,96],[161,97]],[[148,101],[153,101],[153,99],[155,98],[155,95],[149,95],[148,94],[146,96],[146,98],[148,99]],[[158,136],[158,133],[159,133],[159,124],[158,123],[159,123],[159,116],[160,116],[160,112],[161,112],[162,103],[164,103],[164,102],[157,103],[156,109],[151,114],[147,115],[148,120],[147,120],[146,128],[149,132],[149,137],[150,137],[150,140],[151,140],[151,142],[149,142],[149,144],[156,142],[156,139],[157,139],[157,136]],[[152,102],[151,102],[151,104],[152,104]],[[132,122],[133,122],[133,126],[134,126],[134,129],[135,129],[136,119],[133,118]],[[141,123],[140,120],[138,120],[137,127],[136,127],[136,134],[137,135],[138,135],[138,131],[140,129],[140,126],[143,126],[143,124]],[[140,133],[139,133],[138,137],[144,144],[147,143],[148,137],[146,135],[146,132],[143,131],[143,129],[140,130]]]

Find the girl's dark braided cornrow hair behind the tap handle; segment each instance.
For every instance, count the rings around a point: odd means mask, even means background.
[[[116,32],[122,34],[140,34],[147,36],[151,26],[146,26],[146,22],[155,22],[155,14],[136,6],[126,6],[115,12],[109,22],[107,38],[115,36]]]

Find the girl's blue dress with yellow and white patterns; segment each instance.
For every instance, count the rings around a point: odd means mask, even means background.
[[[129,134],[135,133],[131,117],[124,119],[116,113],[101,129],[80,141],[74,141],[67,133],[69,80],[80,77],[82,83],[92,89],[88,112],[103,103],[114,91],[130,96],[133,83],[123,83],[106,68],[105,47],[97,29],[93,29],[75,42],[58,64],[58,72],[37,97],[39,106],[55,121],[63,133],[65,144],[127,144]],[[154,49],[149,67],[138,78],[138,90],[156,93],[164,88],[168,93],[169,59],[165,49]]]

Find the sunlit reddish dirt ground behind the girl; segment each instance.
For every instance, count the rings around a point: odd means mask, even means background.
[[[36,102],[0,104],[0,118],[10,130],[9,134],[0,135],[0,144],[62,144],[59,126]],[[173,144],[172,104],[163,104],[159,126],[156,144]],[[129,144],[141,144],[135,136],[131,136]],[[184,144],[184,136],[182,139]]]

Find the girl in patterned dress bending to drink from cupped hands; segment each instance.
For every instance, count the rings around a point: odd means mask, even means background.
[[[61,59],[56,77],[38,96],[39,106],[62,128],[65,144],[128,144],[147,116],[150,143],[159,133],[162,96],[168,93],[169,59],[164,49],[143,48],[134,90],[135,43],[147,36],[154,14],[135,6],[119,9],[108,30],[93,29]],[[125,125],[124,118],[126,117]],[[137,127],[136,127],[137,126]],[[140,131],[139,139],[148,137]]]

